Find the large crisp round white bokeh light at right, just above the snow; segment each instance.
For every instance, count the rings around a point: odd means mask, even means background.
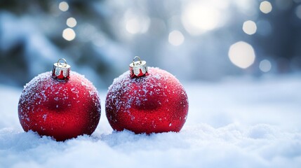
[[[255,61],[255,52],[252,45],[244,41],[239,41],[231,45],[228,56],[230,61],[241,69],[248,68]]]

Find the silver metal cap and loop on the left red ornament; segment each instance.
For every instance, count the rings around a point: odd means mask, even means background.
[[[60,63],[60,60],[63,60],[64,63]],[[57,63],[53,64],[52,77],[62,80],[68,80],[70,78],[70,65],[67,64],[66,59],[60,58]]]

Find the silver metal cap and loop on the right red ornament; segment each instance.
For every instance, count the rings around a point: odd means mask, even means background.
[[[136,58],[139,60],[135,61]],[[132,78],[138,78],[146,75],[148,75],[147,62],[141,60],[140,57],[135,56],[133,62],[130,64],[130,76]]]

